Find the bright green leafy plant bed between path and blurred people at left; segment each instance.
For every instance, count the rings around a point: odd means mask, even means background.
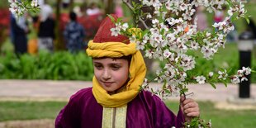
[[[54,54],[41,51],[39,55],[14,55],[0,57],[0,78],[91,80],[92,59],[83,52]]]

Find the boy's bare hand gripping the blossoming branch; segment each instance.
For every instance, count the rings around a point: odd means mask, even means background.
[[[198,103],[191,98],[186,98],[184,96],[180,97],[180,107],[183,111],[186,121],[190,121],[192,117],[200,116],[200,111]]]

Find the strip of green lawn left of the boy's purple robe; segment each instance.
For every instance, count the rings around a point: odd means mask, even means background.
[[[55,119],[67,102],[0,102],[0,121]]]

